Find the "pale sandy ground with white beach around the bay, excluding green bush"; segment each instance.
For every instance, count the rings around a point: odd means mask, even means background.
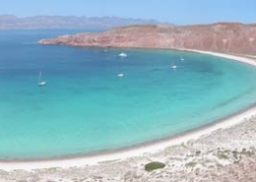
[[[244,57],[198,51],[256,67]],[[145,171],[160,161],[163,169]],[[256,182],[256,107],[180,137],[123,152],[80,158],[0,162],[0,182]]]

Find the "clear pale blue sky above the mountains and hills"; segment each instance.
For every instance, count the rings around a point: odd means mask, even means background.
[[[117,16],[177,25],[256,23],[256,0],[0,0],[0,14]]]

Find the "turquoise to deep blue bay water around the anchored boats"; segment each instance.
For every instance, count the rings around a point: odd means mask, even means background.
[[[70,31],[0,31],[0,160],[132,147],[210,124],[256,100],[255,68],[224,58],[36,44]]]

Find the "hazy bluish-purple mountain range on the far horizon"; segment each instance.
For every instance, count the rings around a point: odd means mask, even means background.
[[[87,29],[108,30],[130,25],[159,25],[156,20],[125,19],[118,17],[62,17],[36,16],[18,18],[14,15],[0,16],[0,30],[36,30],[36,29]]]

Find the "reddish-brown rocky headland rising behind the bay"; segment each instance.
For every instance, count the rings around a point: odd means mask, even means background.
[[[41,44],[131,48],[188,48],[256,55],[256,25],[132,26],[100,33],[63,35]]]

